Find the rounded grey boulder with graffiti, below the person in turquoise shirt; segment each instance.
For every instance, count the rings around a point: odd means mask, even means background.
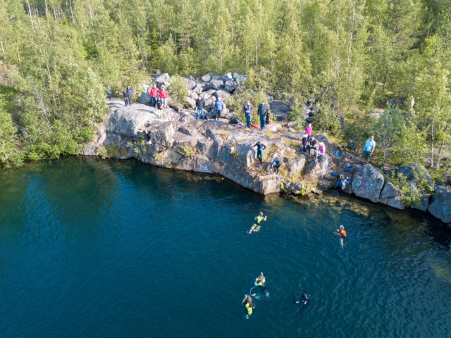
[[[381,196],[384,178],[382,173],[371,164],[362,165],[354,173],[352,192],[362,199],[376,203]]]

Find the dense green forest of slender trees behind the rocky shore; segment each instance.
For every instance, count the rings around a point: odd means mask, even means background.
[[[378,165],[449,175],[451,0],[0,0],[0,165],[77,154],[157,70],[249,75],[242,96],[317,99],[314,127]],[[244,93],[244,94],[243,94]],[[448,171],[448,174],[446,172]]]

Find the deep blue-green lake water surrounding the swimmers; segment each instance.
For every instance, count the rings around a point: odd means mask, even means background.
[[[421,213],[96,158],[1,172],[0,206],[0,337],[451,337],[451,232]]]

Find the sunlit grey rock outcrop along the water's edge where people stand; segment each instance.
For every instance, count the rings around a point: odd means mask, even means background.
[[[212,75],[209,76],[211,81]],[[321,194],[337,182],[330,173],[344,174],[352,182],[345,187],[348,194],[405,208],[395,187],[385,182],[380,170],[371,164],[360,165],[359,158],[346,152],[333,155],[335,149],[325,135],[316,137],[326,144],[328,152],[314,161],[313,154],[298,154],[304,133],[290,132],[277,123],[268,125],[264,131],[245,130],[242,123],[230,124],[228,119],[196,120],[193,111],[175,112],[167,108],[159,118],[153,107],[144,104],[124,107],[122,101],[111,101],[109,105],[105,122],[82,154],[136,158],[165,168],[223,175],[265,195]],[[150,144],[145,143],[144,130],[150,132]],[[258,141],[266,145],[263,163],[257,160],[253,147]],[[271,172],[270,163],[275,157],[283,163],[280,175]],[[350,165],[352,169],[344,172]],[[409,173],[408,168],[402,170]],[[443,222],[451,223],[451,189],[435,186],[435,194],[423,196],[417,208],[427,209]]]

